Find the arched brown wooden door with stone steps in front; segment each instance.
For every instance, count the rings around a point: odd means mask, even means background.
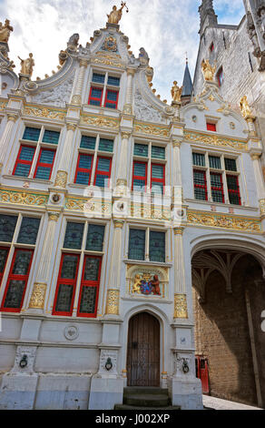
[[[129,321],[128,386],[160,386],[160,322],[148,312]]]

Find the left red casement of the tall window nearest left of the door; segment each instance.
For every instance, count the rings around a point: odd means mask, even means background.
[[[79,260],[79,254],[62,254],[53,315],[72,316]]]

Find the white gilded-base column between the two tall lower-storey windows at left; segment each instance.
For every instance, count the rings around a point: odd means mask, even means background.
[[[59,219],[60,213],[49,212],[48,217],[48,226],[46,229],[43,251],[41,259],[39,261],[39,266],[34,282],[34,288],[31,294],[31,299],[29,302],[29,309],[34,311],[44,311],[44,302],[45,295],[47,290],[47,283],[49,273],[51,271],[51,260],[54,244],[54,235],[56,223]]]

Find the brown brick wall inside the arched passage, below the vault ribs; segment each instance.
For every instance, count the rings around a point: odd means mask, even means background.
[[[251,278],[247,278],[246,266]],[[212,396],[239,403],[258,403],[245,299],[247,287],[264,405],[265,335],[260,329],[260,313],[261,308],[265,308],[265,283],[261,278],[258,263],[253,264],[252,258],[244,256],[233,270],[231,294],[226,292],[225,282],[217,271],[212,272],[207,282],[204,303],[198,301],[198,292],[193,289],[196,353],[208,358]]]

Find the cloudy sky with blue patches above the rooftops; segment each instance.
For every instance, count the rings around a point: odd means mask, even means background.
[[[9,18],[14,32],[9,39],[9,57],[20,71],[17,56],[34,54],[36,76],[56,70],[58,54],[69,37],[79,33],[85,46],[93,31],[103,28],[106,14],[120,0],[0,0],[0,20]],[[242,0],[214,0],[220,24],[239,24],[244,15]],[[171,99],[172,81],[182,83],[185,52],[193,77],[199,44],[198,14],[201,0],[127,0],[121,31],[129,37],[134,56],[144,47],[154,68],[153,87],[162,99]]]

